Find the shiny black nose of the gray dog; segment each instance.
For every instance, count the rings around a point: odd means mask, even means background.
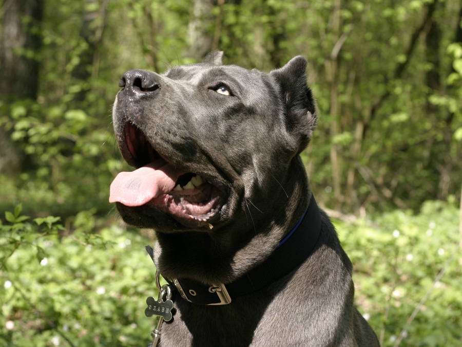
[[[119,87],[134,94],[152,93],[160,88],[160,76],[148,70],[129,70],[122,75]]]

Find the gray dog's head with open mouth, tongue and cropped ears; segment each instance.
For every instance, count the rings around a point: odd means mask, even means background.
[[[137,170],[111,185],[123,219],[157,232],[248,229],[284,206],[287,175],[316,124],[306,60],[265,74],[221,52],[163,74],[130,70],[113,106],[115,136]],[[234,224],[233,224],[234,223]]]

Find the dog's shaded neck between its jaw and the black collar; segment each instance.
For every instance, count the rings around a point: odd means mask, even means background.
[[[275,186],[271,213],[244,210],[219,232],[157,233],[155,263],[163,276],[230,283],[265,261],[306,210],[311,189],[301,159],[292,160]],[[245,213],[251,214],[246,215]]]

